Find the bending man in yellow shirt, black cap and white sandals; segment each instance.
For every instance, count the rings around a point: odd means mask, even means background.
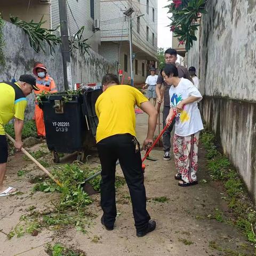
[[[21,133],[27,106],[26,96],[36,87],[36,78],[21,75],[17,83],[0,82],[0,197],[17,193],[17,189],[4,187],[4,176],[8,157],[8,147],[4,125],[14,117],[15,143],[18,150],[22,148]]]

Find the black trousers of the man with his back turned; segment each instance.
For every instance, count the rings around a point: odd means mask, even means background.
[[[101,207],[105,225],[113,226],[116,220],[115,172],[116,161],[119,159],[132,199],[135,227],[141,231],[147,228],[150,216],[146,210],[140,150],[135,151],[134,140],[136,139],[131,134],[117,134],[97,143],[102,167]]]

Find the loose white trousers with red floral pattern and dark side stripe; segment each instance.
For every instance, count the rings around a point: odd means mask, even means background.
[[[199,132],[186,137],[174,134],[173,153],[175,166],[178,173],[181,174],[182,180],[186,183],[196,181],[196,171],[198,169]]]

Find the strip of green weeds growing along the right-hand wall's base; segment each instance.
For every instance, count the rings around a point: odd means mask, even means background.
[[[226,222],[241,229],[247,240],[255,244],[256,211],[241,178],[239,178],[228,158],[217,150],[212,132],[204,131],[201,134],[201,142],[207,151],[207,169],[210,177],[213,180],[221,180],[227,190],[227,202],[234,218],[226,220]],[[225,221],[220,211],[215,211],[214,219],[220,222]]]

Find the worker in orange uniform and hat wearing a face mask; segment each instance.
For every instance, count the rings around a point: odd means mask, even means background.
[[[41,62],[36,62],[34,64],[33,73],[36,76],[36,86],[39,88],[39,91],[35,94],[44,92],[55,93],[57,88],[52,77],[47,73],[45,65]],[[38,106],[38,102],[35,101],[35,121],[37,135],[41,138],[45,138],[45,126],[44,126],[44,113],[41,108]]]

